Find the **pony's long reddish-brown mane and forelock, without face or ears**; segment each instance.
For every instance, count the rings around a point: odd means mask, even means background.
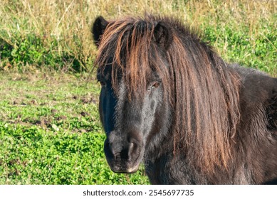
[[[166,24],[172,41],[162,49],[153,38],[157,23]],[[239,78],[209,45],[179,21],[145,16],[110,21],[100,38],[95,62],[113,68],[113,87],[118,74],[129,96],[140,97],[150,83],[152,71],[174,114],[174,153],[186,153],[199,171],[228,169],[232,137],[239,122]],[[183,152],[184,151],[184,152]]]

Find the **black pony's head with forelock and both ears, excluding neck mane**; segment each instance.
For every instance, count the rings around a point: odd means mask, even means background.
[[[100,119],[107,139],[105,156],[114,172],[133,173],[157,132],[167,132],[171,120],[164,95],[169,63],[164,59],[172,33],[167,24],[137,18],[93,24],[99,54],[96,60]],[[169,95],[167,95],[169,96]],[[160,135],[159,135],[160,136]]]

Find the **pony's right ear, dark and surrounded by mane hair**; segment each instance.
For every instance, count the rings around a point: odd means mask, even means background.
[[[157,23],[154,28],[154,40],[157,45],[167,50],[172,43],[172,39],[172,29],[166,23]]]

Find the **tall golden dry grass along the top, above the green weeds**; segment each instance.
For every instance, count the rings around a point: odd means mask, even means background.
[[[55,38],[58,48],[51,53],[66,51],[85,64],[96,53],[90,34],[96,16],[118,18],[147,12],[174,16],[202,31],[207,26],[244,30],[255,45],[257,37],[270,31],[264,26],[276,27],[276,6],[275,0],[1,0],[0,38],[14,45],[19,34],[33,33],[45,48],[51,48]]]

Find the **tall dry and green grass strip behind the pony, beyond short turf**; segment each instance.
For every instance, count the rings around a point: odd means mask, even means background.
[[[0,68],[88,71],[96,54],[90,27],[96,16],[113,19],[145,12],[174,16],[203,33],[231,62],[275,75],[275,0],[2,0]]]

